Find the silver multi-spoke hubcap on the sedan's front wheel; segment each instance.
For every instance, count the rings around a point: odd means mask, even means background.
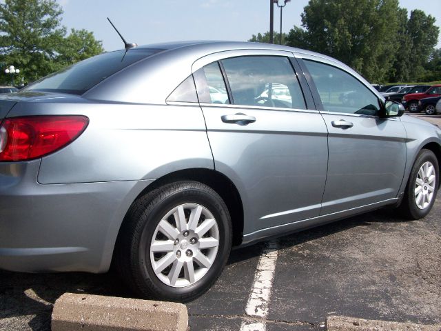
[[[431,203],[435,192],[435,168],[431,162],[424,163],[418,171],[415,183],[415,202],[424,209]]]

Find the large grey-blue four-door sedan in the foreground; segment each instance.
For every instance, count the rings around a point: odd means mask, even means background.
[[[287,46],[105,52],[3,94],[0,121],[0,268],[113,262],[147,298],[203,294],[232,245],[386,205],[422,219],[440,183],[440,128]]]

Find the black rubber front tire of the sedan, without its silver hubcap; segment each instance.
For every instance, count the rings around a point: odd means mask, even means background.
[[[433,197],[430,203],[424,208],[419,208],[416,202],[416,184],[418,179],[418,172],[422,165],[426,162],[430,162],[433,165],[435,172],[435,190],[433,192]],[[406,219],[422,219],[429,214],[433,203],[436,199],[436,194],[438,192],[438,187],[440,185],[440,167],[438,165],[438,159],[436,159],[435,154],[431,150],[421,150],[413,164],[409,180],[407,181],[406,190],[404,191],[404,197],[402,203],[400,204],[399,210],[403,217]]]

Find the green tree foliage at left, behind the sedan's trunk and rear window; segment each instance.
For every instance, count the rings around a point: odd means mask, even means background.
[[[6,66],[34,81],[64,66],[103,52],[92,32],[61,26],[63,10],[54,0],[5,0],[0,3],[1,77]]]

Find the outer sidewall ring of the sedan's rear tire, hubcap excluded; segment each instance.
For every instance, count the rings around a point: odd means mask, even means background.
[[[181,190],[170,192],[170,194],[167,194],[163,199],[156,201],[156,204],[145,218],[143,230],[139,235],[139,251],[137,254],[138,271],[143,278],[141,283],[148,283],[150,288],[154,288],[154,292],[161,293],[163,299],[179,301],[192,299],[192,297],[196,297],[208,290],[223,270],[231,248],[231,225],[225,203],[223,203],[216,193],[213,193],[214,192],[207,192],[207,190],[194,187],[182,188]],[[154,230],[159,221],[161,221],[167,212],[170,212],[170,210],[183,203],[198,203],[213,214],[219,229],[219,246],[212,266],[201,279],[184,288],[174,288],[166,285],[156,276],[150,261],[150,245],[152,243]]]

